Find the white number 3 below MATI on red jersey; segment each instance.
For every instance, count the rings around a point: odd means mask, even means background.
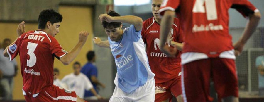
[[[37,46],[38,44],[36,43],[28,42],[28,46],[27,46],[28,55],[29,55],[29,60],[27,60],[28,67],[33,67],[36,64],[37,58],[34,51],[37,48]]]

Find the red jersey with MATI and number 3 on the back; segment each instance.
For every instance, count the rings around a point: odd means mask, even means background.
[[[68,52],[51,35],[43,31],[29,31],[19,36],[7,53],[10,60],[19,53],[23,91],[34,97],[53,85],[54,57],[60,59]]]

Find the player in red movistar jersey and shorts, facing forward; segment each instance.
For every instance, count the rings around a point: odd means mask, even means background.
[[[174,97],[182,102],[181,59],[183,34],[180,21],[174,18],[169,35],[177,45],[175,58],[169,57],[160,50],[160,15],[158,10],[163,0],[152,0],[153,17],[143,22],[142,39],[146,44],[151,71],[155,73],[155,102],[167,102]],[[169,43],[170,44],[170,43]]]

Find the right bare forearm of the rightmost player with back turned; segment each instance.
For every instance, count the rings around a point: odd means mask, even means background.
[[[243,35],[239,39],[239,42],[245,44],[248,41],[248,39],[251,37],[255,29],[257,28],[260,18],[260,12],[256,12],[253,15],[249,15],[249,21],[245,27]]]

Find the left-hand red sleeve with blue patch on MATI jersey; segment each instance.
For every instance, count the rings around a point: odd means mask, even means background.
[[[7,54],[9,56],[9,60],[13,60],[19,53],[19,49],[22,43],[23,37],[19,36],[16,42],[10,46],[8,46]]]

